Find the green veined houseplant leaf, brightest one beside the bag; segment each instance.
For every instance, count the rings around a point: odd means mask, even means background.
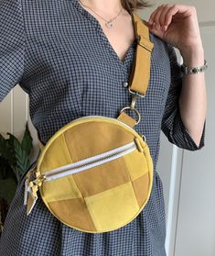
[[[14,149],[14,158],[16,161],[16,164],[14,165],[14,171],[16,173],[17,181],[19,182],[19,179],[22,176],[22,174],[26,172],[27,167],[30,164],[30,161],[28,160],[26,150],[23,150],[18,139],[16,139],[16,137],[13,134],[10,134],[9,143],[11,145],[11,148]]]

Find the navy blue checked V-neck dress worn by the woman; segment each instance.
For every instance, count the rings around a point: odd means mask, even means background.
[[[44,143],[74,118],[118,117],[130,105],[124,82],[136,40],[120,61],[98,21],[78,0],[0,0],[0,20],[0,100],[19,83],[29,95],[30,117]],[[136,104],[143,117],[136,130],[145,134],[155,165],[145,209],[123,228],[84,233],[60,223],[40,197],[27,217],[22,179],[5,221],[1,256],[166,255],[163,189],[156,172],[160,131],[187,150],[204,146],[204,131],[198,147],[179,113],[181,74],[175,51],[156,36],[151,39],[150,83],[145,99]]]

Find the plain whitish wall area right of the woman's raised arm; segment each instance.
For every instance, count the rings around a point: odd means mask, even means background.
[[[201,28],[206,59],[209,109],[206,147],[183,160],[181,193],[178,208],[176,256],[215,255],[215,26]],[[184,253],[185,252],[185,253]]]

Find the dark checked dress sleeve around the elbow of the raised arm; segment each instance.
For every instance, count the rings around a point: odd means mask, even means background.
[[[161,129],[167,136],[167,139],[177,145],[177,147],[185,150],[200,150],[205,142],[206,121],[198,146],[185,128],[179,111],[178,99],[182,88],[182,74],[177,63],[176,52],[169,45],[167,45],[167,51],[171,66],[171,84],[167,95],[164,116],[162,117]]]

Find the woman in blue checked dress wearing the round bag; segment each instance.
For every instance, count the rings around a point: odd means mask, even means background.
[[[130,12],[144,6],[128,0],[0,0],[0,99],[19,83],[44,143],[71,119],[116,117],[130,104],[124,88],[136,46]],[[138,102],[144,118],[136,127],[147,138],[155,166],[144,210],[123,228],[84,233],[60,223],[40,197],[27,217],[22,179],[5,221],[2,256],[166,255],[163,190],[156,173],[160,130],[178,147],[199,150],[206,117],[204,68],[182,74],[170,44],[188,67],[204,66],[204,50],[192,6],[159,6],[149,28],[151,78],[145,100]]]

